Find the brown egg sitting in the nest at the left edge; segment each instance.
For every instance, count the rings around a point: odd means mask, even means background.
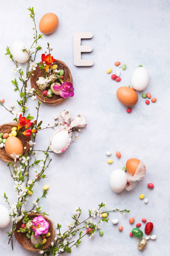
[[[13,158],[11,156],[13,153],[15,155],[23,154],[23,144],[17,137],[8,137],[5,142],[5,151],[10,158]]]

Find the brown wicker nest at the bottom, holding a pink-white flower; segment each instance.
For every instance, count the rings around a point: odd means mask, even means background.
[[[40,214],[40,213],[29,213],[28,214],[30,220],[33,220],[33,218],[35,218],[36,216],[40,216],[40,215],[42,215],[42,214]],[[44,215],[42,215],[42,216],[50,224],[50,228],[48,229],[48,231],[51,233],[51,236],[47,237],[47,242],[42,246],[42,249],[46,249],[47,247],[49,247],[51,245],[53,239],[55,238],[55,227],[50,219],[48,219]],[[16,240],[18,241],[18,243],[20,243],[20,245],[22,245],[25,249],[27,249],[29,251],[40,251],[40,249],[35,248],[35,246],[31,243],[31,240],[26,236],[26,233],[17,232],[17,230],[20,230],[20,226],[22,223],[23,223],[23,219],[21,219],[17,223],[17,226],[15,228],[14,234],[15,234]]]

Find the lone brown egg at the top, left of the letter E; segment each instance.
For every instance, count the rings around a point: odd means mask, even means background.
[[[54,13],[46,13],[42,16],[39,23],[39,29],[43,34],[50,34],[58,26],[58,17]]]

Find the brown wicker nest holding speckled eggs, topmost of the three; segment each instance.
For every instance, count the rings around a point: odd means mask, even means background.
[[[39,63],[39,65],[41,65],[41,64],[42,64],[42,62]],[[54,64],[57,64],[57,66],[58,66],[57,69],[64,70],[64,82],[72,83],[72,75],[71,75],[70,69],[67,67],[67,65],[64,62],[57,60],[57,59]],[[37,95],[36,93],[35,93],[35,95],[37,96],[37,98],[39,100],[41,100],[43,91],[39,89],[39,87],[36,84],[36,81],[37,81],[38,77],[44,77],[45,69],[40,69],[39,66],[37,66],[35,71],[32,72],[32,74],[34,74],[34,75],[33,76],[31,75],[31,77],[30,77],[31,87],[35,88],[37,90],[37,92],[39,92],[40,96]],[[47,87],[47,90],[48,90],[48,88],[50,88],[50,87]],[[60,104],[63,101],[65,101],[64,98],[60,97],[60,95],[55,95],[55,94],[52,95],[52,98],[46,97],[44,100],[42,100],[42,102],[45,102],[50,105]]]

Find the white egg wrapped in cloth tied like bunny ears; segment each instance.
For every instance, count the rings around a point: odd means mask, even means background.
[[[67,130],[58,130],[50,140],[50,148],[55,153],[62,153],[67,149],[71,142],[71,134]]]

